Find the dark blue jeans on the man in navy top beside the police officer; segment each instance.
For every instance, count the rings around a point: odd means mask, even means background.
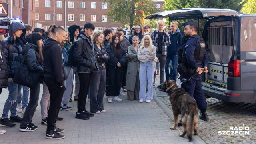
[[[165,78],[170,79],[170,73],[169,73],[169,63],[172,60],[172,80],[176,80],[177,75],[177,58],[178,55],[176,54],[168,54],[166,56],[166,65],[165,65]]]

